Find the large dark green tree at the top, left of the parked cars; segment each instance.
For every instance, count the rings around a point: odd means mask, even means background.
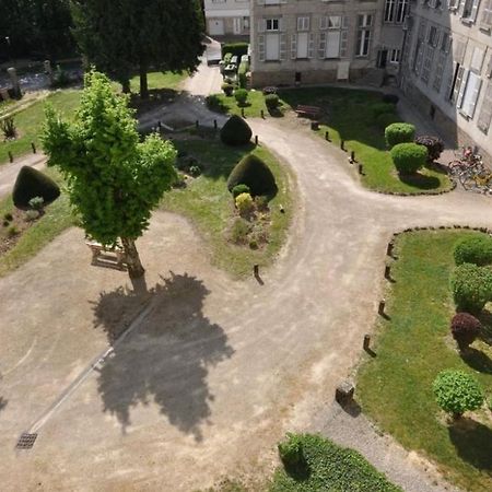
[[[203,19],[198,0],[72,0],[73,34],[82,54],[129,91],[140,74],[196,70],[203,52]]]

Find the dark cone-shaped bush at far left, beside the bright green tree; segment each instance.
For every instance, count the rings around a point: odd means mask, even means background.
[[[45,204],[48,204],[59,196],[60,188],[48,176],[34,167],[21,167],[12,191],[12,200],[15,207],[28,209],[30,200],[35,197],[42,197]]]

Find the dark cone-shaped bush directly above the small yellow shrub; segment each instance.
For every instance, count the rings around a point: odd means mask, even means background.
[[[244,156],[234,167],[227,179],[227,189],[237,185],[249,187],[253,196],[270,195],[277,190],[276,178],[270,168],[254,154]]]

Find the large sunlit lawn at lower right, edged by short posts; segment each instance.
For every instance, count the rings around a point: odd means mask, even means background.
[[[449,274],[457,241],[472,232],[400,235],[388,288],[389,320],[377,325],[376,356],[359,372],[364,412],[409,449],[431,457],[450,482],[473,492],[492,490],[492,413],[485,408],[448,425],[432,382],[444,368],[472,373],[492,395],[492,324],[461,359],[449,335],[454,304]]]

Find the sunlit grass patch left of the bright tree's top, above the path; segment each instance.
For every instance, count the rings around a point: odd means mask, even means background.
[[[70,89],[56,91],[49,96],[38,101],[25,109],[13,115],[19,137],[15,140],[0,141],[0,164],[9,162],[8,152],[14,159],[32,152],[31,142],[39,147],[39,131],[45,120],[45,104],[51,103],[55,109],[70,117],[79,105],[81,91]]]

